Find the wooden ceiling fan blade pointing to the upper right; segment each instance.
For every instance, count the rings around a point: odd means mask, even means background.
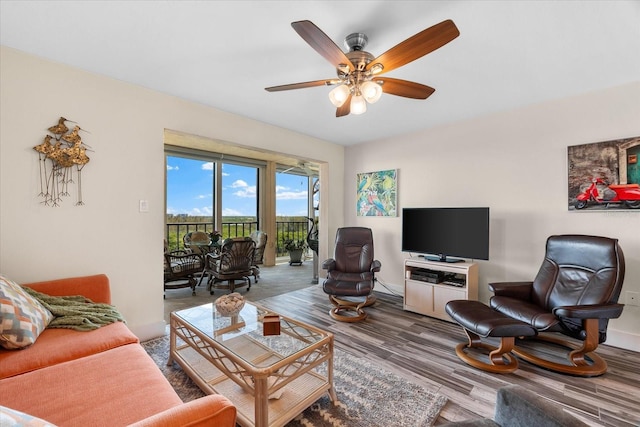
[[[442,21],[395,45],[367,64],[366,69],[381,64],[384,67],[382,73],[395,70],[444,46],[459,35],[460,31],[452,20]]]

